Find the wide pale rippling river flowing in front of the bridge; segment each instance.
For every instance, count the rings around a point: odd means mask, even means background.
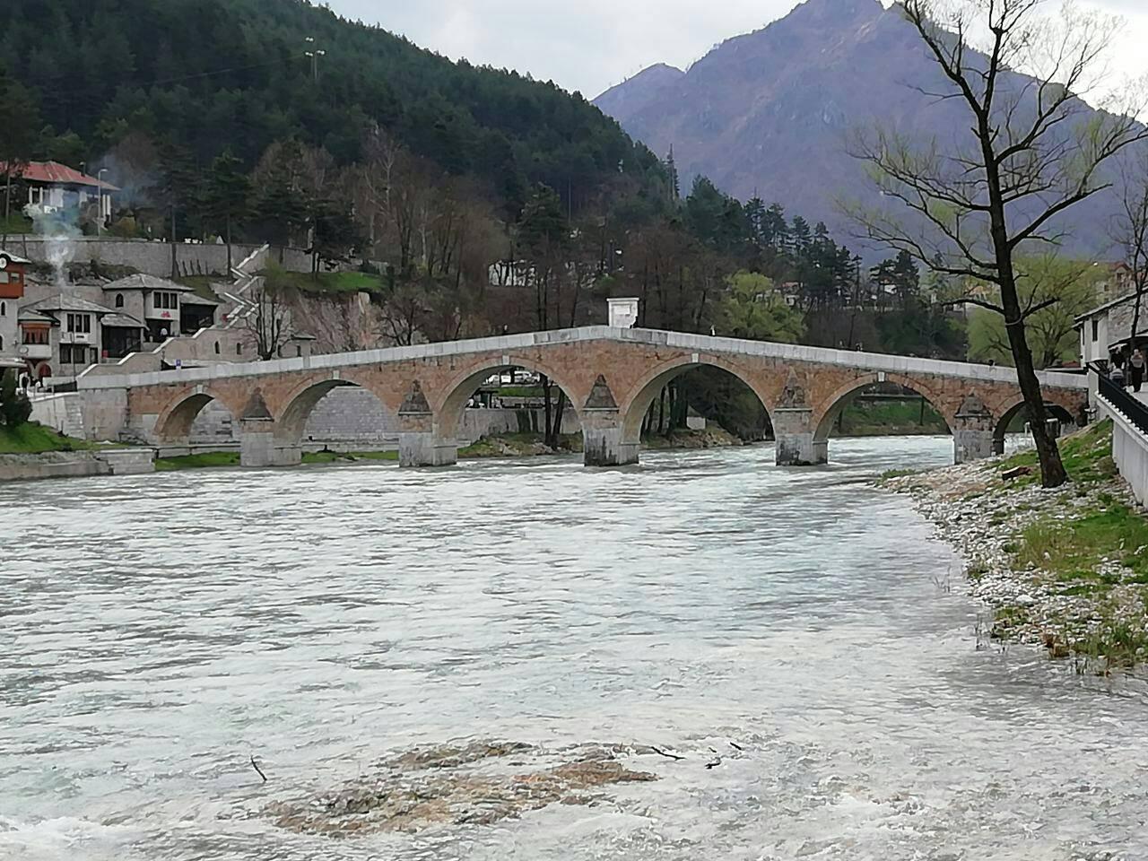
[[[867,483],[951,452],[0,487],[0,858],[1148,858],[1141,691],[977,649],[956,558]],[[459,738],[684,759],[486,825],[261,813]]]

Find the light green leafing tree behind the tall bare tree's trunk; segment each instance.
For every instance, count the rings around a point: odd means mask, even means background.
[[[1076,318],[1096,304],[1097,277],[1096,267],[1087,261],[1054,255],[1016,261],[1021,304],[1039,308],[1025,318],[1025,336],[1035,367],[1053,367],[1078,355]],[[991,286],[993,298],[995,292]],[[1001,315],[985,308],[974,310],[969,319],[969,358],[1013,364]]]

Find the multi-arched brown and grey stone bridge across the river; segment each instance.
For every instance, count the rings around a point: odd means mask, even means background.
[[[300,461],[308,417],[324,395],[360,386],[397,416],[402,465],[442,466],[456,460],[456,429],[474,390],[496,371],[523,367],[566,393],[582,427],[585,464],[619,466],[637,463],[642,419],[661,388],[703,365],[728,371],[761,400],[782,465],[827,463],[835,419],[875,382],[928,398],[953,432],[957,463],[999,451],[1021,409],[1015,372],[1007,367],[606,326],[82,375],[78,388],[90,436],[186,445],[196,414],[215,400],[239,424],[245,466],[287,466]],[[1057,416],[1083,420],[1084,375],[1044,373],[1041,382]]]

